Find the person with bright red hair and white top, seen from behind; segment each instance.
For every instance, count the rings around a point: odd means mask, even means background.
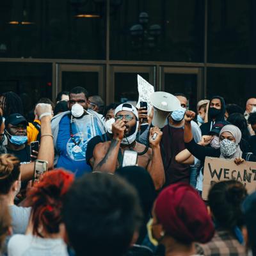
[[[68,255],[63,239],[65,228],[62,221],[63,197],[74,180],[74,174],[54,170],[42,176],[30,189],[27,204],[31,217],[26,235],[15,235],[8,243],[9,256],[21,255]]]

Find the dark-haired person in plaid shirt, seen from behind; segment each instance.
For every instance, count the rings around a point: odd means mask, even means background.
[[[241,204],[246,195],[246,188],[236,180],[225,180],[212,186],[208,203],[216,232],[209,243],[198,245],[198,254],[246,255],[240,229],[244,224]]]

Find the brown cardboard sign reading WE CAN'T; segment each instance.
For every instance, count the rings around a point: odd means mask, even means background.
[[[256,163],[235,164],[234,159],[205,157],[202,198],[207,200],[211,186],[222,180],[237,180],[244,184],[248,193],[256,189]]]

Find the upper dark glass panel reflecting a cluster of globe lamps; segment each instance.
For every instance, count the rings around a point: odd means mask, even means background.
[[[113,2],[112,60],[204,60],[204,0]]]

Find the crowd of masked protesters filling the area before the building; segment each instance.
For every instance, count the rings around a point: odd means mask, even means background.
[[[214,96],[195,113],[173,95],[160,129],[154,109],[104,106],[81,86],[29,113],[1,93],[0,255],[256,255],[256,192],[223,180],[202,199],[205,157],[256,162],[256,98]]]

